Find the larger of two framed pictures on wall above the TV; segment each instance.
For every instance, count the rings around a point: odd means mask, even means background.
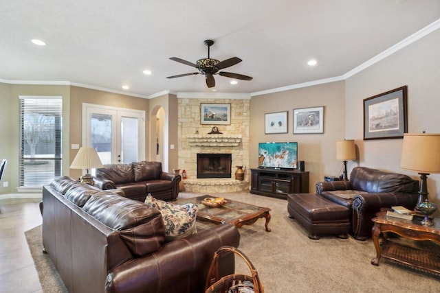
[[[294,109],[294,134],[324,133],[324,106]]]

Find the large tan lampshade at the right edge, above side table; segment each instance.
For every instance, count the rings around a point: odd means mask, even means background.
[[[405,133],[400,167],[418,173],[440,173],[440,134]]]

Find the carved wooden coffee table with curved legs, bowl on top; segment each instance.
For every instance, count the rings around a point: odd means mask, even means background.
[[[243,225],[252,225],[260,218],[266,218],[265,228],[267,232],[271,229],[267,226],[270,221],[270,209],[267,207],[257,207],[253,204],[245,202],[238,202],[225,198],[226,203],[221,207],[207,207],[202,203],[204,198],[211,198],[212,196],[198,196],[196,198],[186,198],[177,200],[176,204],[197,204],[199,211],[197,218],[208,220],[214,223],[230,223],[240,228]]]

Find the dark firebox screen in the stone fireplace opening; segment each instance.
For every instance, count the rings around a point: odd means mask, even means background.
[[[197,154],[197,178],[230,178],[232,154]]]

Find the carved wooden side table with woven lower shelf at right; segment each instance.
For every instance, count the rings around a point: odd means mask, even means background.
[[[371,259],[371,264],[379,266],[380,258],[384,257],[417,270],[440,274],[440,218],[434,218],[434,226],[422,226],[420,220],[419,217],[412,221],[388,217],[386,211],[378,213],[373,218],[376,257]],[[401,238],[392,237],[389,232]],[[379,243],[381,234],[382,244]]]

